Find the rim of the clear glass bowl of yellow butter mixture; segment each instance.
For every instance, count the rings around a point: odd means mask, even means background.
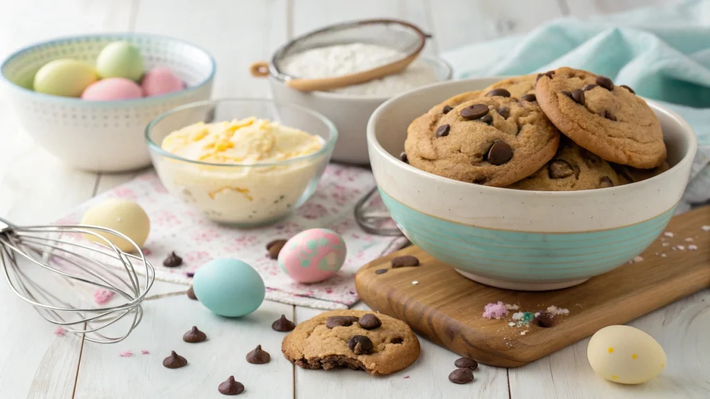
[[[330,138],[328,141],[326,141],[324,143],[324,145],[320,148],[320,150],[315,151],[315,153],[310,153],[310,154],[301,155],[301,156],[298,156],[295,158],[289,158],[289,159],[285,159],[285,160],[279,160],[276,162],[268,162],[268,163],[212,163],[212,162],[203,162],[201,160],[191,160],[191,159],[183,158],[180,155],[175,155],[173,153],[163,150],[163,148],[160,147],[157,143],[155,143],[155,141],[153,141],[153,138],[151,138],[151,129],[153,129],[153,126],[155,126],[156,124],[158,124],[158,122],[162,121],[163,119],[167,118],[168,116],[176,114],[180,111],[184,111],[185,109],[195,108],[197,106],[204,106],[204,105],[209,105],[209,104],[219,104],[221,102],[257,102],[257,103],[261,103],[261,104],[285,106],[288,108],[297,109],[298,111],[302,111],[302,112],[305,112],[306,114],[310,114],[311,116],[315,116],[317,119],[322,121],[323,124],[325,124],[325,126],[327,126],[328,130],[330,131]],[[309,133],[309,134],[312,134],[312,133]],[[148,145],[149,151],[151,151],[152,153],[156,153],[157,155],[171,158],[173,160],[178,160],[180,162],[192,163],[194,165],[220,167],[220,168],[267,168],[267,167],[273,167],[273,166],[290,165],[292,163],[297,163],[302,160],[311,160],[313,158],[319,157],[320,155],[332,153],[333,148],[335,147],[335,142],[338,139],[338,129],[335,127],[335,124],[333,124],[333,122],[330,121],[330,119],[328,119],[326,116],[324,116],[323,114],[320,114],[317,111],[313,111],[312,109],[308,109],[305,106],[300,106],[300,105],[290,104],[290,103],[285,103],[285,102],[275,102],[271,99],[258,99],[258,98],[251,98],[251,97],[227,97],[227,98],[223,98],[223,99],[209,99],[209,100],[204,100],[204,101],[200,101],[200,102],[191,102],[189,104],[177,106],[173,109],[165,111],[165,112],[163,112],[163,114],[156,116],[155,119],[153,119],[150,123],[148,123],[148,126],[146,126],[146,131],[144,133],[144,137],[146,139],[146,144]]]

